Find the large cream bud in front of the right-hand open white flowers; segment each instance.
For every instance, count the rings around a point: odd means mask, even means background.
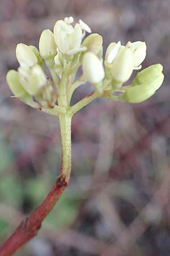
[[[126,82],[133,72],[133,53],[130,48],[121,49],[112,63],[112,77],[118,82]]]

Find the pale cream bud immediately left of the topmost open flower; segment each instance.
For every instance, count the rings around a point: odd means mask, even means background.
[[[43,57],[43,59],[56,56],[57,46],[54,41],[54,35],[52,31],[42,31],[39,41],[39,49],[40,55]]]

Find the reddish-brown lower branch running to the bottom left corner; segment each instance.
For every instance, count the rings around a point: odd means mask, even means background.
[[[67,177],[68,178],[68,177]],[[0,247],[0,256],[10,256],[15,253],[24,243],[36,236],[41,228],[41,222],[46,215],[53,209],[62,192],[67,187],[67,178],[61,174],[54,183],[52,190],[46,196],[39,207],[25,220],[23,220],[14,233]]]

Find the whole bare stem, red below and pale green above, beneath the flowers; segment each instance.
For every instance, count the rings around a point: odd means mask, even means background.
[[[59,177],[45,200],[34,212],[16,228],[14,233],[0,246],[0,256],[10,256],[22,245],[35,237],[41,228],[41,222],[53,209],[59,197],[67,187],[71,171],[71,116],[59,115],[62,144],[62,164]]]

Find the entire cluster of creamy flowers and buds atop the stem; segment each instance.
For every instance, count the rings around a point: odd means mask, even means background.
[[[54,108],[58,103],[60,110],[67,111],[71,108],[74,90],[86,81],[94,85],[96,97],[132,103],[145,101],[162,85],[163,67],[155,64],[138,72],[133,82],[124,86],[133,71],[142,68],[145,42],[128,42],[125,46],[113,42],[103,60],[103,38],[91,34],[90,27],[82,20],[75,26],[73,22],[73,17],[66,17],[56,22],[53,32],[42,31],[39,50],[18,44],[18,72],[7,73],[7,82],[15,97],[34,108]],[[83,39],[86,32],[90,35]],[[52,79],[45,75],[43,60]],[[82,76],[76,79],[80,67]]]

